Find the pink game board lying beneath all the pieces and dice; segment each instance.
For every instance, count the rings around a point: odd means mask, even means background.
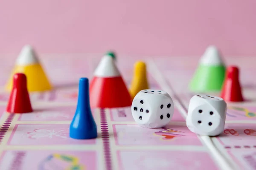
[[[5,57],[6,58],[6,57]],[[0,94],[0,170],[253,170],[256,169],[256,71],[253,58],[225,58],[240,67],[242,103],[228,103],[224,132],[197,136],[186,127],[192,97],[188,82],[198,64],[195,57],[143,58],[151,89],[168,92],[175,102],[165,128],[139,127],[131,108],[93,108],[97,139],[69,138],[76,111],[80,77],[93,75],[99,56],[41,55],[53,91],[30,94],[33,113],[5,113],[9,94]],[[130,85],[138,58],[118,57],[116,64]],[[9,78],[14,60],[2,61],[0,85]]]

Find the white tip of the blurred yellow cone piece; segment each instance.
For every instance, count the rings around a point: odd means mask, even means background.
[[[17,65],[31,65],[39,63],[32,46],[25,45],[16,60]]]

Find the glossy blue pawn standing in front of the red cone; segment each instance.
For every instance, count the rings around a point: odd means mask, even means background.
[[[79,80],[79,94],[76,113],[70,124],[70,137],[74,139],[93,139],[97,137],[97,126],[93,119],[89,101],[89,80]]]

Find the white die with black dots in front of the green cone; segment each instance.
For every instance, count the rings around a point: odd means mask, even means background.
[[[186,125],[198,135],[217,136],[224,130],[227,103],[220,97],[195,95],[190,99]]]

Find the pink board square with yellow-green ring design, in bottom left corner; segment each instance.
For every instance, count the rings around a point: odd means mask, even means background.
[[[96,170],[95,151],[10,150],[0,158],[1,170]]]

